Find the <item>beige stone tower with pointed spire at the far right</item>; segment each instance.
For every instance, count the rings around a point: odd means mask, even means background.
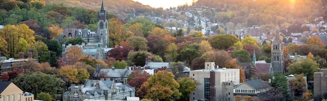
[[[274,73],[284,74],[284,45],[280,38],[278,29],[277,25],[277,33],[271,44],[271,64]]]

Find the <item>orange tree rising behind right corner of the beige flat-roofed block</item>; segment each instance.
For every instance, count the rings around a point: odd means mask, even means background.
[[[227,68],[227,69],[240,69],[240,82],[246,81],[243,68],[238,66],[236,63],[237,63],[237,60],[234,58],[225,65],[225,68]]]

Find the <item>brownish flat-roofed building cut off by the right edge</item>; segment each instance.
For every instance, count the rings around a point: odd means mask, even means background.
[[[320,69],[320,72],[313,73],[313,95],[315,97],[327,93],[327,69]]]

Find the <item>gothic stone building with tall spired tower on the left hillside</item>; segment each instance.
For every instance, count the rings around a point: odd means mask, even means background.
[[[103,1],[98,15],[97,32],[91,32],[88,29],[75,29],[75,27],[70,26],[66,27],[66,30],[61,33],[59,40],[64,40],[64,38],[68,37],[80,37],[88,44],[69,44],[68,46],[62,44],[62,56],[65,56],[65,51],[70,47],[77,46],[82,48],[82,54],[96,59],[106,59],[105,54],[112,48],[109,48],[108,13],[104,9]]]

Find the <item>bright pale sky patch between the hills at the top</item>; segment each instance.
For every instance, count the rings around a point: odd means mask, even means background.
[[[151,7],[163,7],[169,8],[169,7],[177,7],[180,5],[184,5],[186,3],[192,4],[193,0],[133,0],[137,1],[139,3],[142,3],[143,5],[149,5]],[[197,0],[196,0],[197,1]]]

